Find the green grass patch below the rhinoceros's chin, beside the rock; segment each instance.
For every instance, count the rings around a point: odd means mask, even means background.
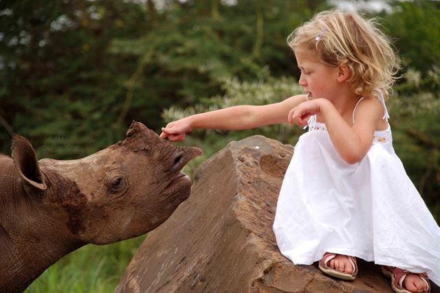
[[[84,246],[47,268],[25,292],[113,292],[145,237],[104,246]]]

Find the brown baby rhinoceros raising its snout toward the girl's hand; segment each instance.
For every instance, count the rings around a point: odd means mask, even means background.
[[[181,168],[199,148],[175,147],[133,122],[124,141],[83,159],[36,159],[19,135],[0,155],[0,292],[22,292],[85,244],[109,244],[162,224],[190,194]]]

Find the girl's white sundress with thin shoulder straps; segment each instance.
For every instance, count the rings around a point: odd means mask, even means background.
[[[382,94],[379,99],[388,121]],[[389,124],[375,131],[364,158],[349,165],[325,124],[312,117],[283,179],[274,233],[295,264],[314,263],[326,252],[352,255],[426,272],[440,285],[440,227],[393,150]]]

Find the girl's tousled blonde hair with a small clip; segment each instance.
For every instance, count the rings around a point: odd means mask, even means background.
[[[320,12],[287,38],[289,47],[316,50],[319,60],[336,67],[347,65],[357,95],[373,95],[375,89],[387,99],[400,69],[391,40],[379,30],[375,19],[356,12]]]

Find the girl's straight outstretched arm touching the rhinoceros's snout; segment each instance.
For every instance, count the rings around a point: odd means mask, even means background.
[[[264,106],[233,106],[221,110],[196,114],[170,122],[162,128],[160,137],[182,141],[194,128],[242,130],[287,122],[289,110],[305,102],[305,95],[294,95],[283,102]]]

